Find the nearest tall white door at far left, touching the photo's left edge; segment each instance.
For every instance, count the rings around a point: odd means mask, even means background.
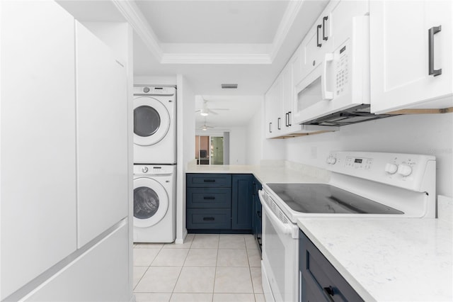
[[[1,297],[76,250],[74,18],[1,1]]]

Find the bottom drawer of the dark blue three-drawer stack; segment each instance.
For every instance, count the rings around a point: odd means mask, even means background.
[[[188,229],[231,229],[231,208],[188,208]]]

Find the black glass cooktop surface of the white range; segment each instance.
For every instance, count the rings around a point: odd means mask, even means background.
[[[301,213],[403,214],[382,203],[329,184],[268,184],[277,196]]]

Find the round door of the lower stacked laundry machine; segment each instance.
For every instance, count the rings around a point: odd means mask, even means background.
[[[151,178],[134,179],[134,226],[149,228],[168,211],[168,194],[164,186]]]

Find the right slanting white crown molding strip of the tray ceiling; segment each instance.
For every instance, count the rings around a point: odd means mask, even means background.
[[[289,1],[285,14],[283,15],[282,21],[277,28],[277,33],[275,33],[275,38],[272,43],[272,49],[269,52],[269,57],[271,61],[275,60],[277,53],[280,51],[289,30],[292,27],[292,24],[296,20],[297,15],[299,14],[300,9],[304,1]]]

